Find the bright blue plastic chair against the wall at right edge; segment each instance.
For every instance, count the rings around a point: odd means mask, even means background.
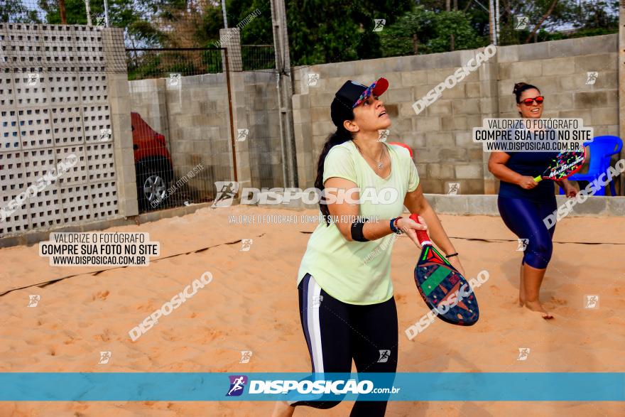
[[[605,173],[610,166],[612,155],[619,153],[623,148],[623,141],[619,136],[597,136],[592,142],[584,143],[584,146],[588,146],[590,151],[588,172],[585,174],[575,173],[569,177],[569,180],[592,182],[599,175]],[[610,181],[610,192],[612,195],[616,195],[614,181]],[[560,194],[564,194],[562,188],[560,188]],[[597,190],[594,195],[605,195],[605,188],[602,187],[601,190]]]

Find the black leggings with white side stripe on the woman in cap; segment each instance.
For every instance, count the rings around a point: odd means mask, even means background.
[[[395,298],[354,305],[332,298],[306,274],[298,286],[300,320],[312,372],[396,372],[398,326]],[[293,406],[332,408],[340,401],[298,401]],[[355,401],[350,416],[384,416],[386,401]]]

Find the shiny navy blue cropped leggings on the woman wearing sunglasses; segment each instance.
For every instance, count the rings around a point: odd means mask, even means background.
[[[547,268],[553,252],[551,239],[555,226],[547,229],[543,219],[557,209],[555,198],[552,201],[534,202],[500,196],[497,206],[506,226],[519,239],[528,239],[522,264],[536,269]]]

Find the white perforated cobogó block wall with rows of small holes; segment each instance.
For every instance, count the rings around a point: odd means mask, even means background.
[[[0,210],[71,154],[0,237],[119,217],[102,28],[0,23]],[[11,210],[12,211],[12,210]]]

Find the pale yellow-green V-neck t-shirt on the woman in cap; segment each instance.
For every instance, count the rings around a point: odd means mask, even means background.
[[[360,189],[359,215],[388,223],[402,214],[404,197],[417,188],[419,175],[408,149],[384,145],[391,156],[391,174],[387,178],[380,178],[354,143],[347,141],[327,153],[323,182],[340,177],[356,183]],[[308,273],[326,293],[344,303],[383,303],[393,296],[394,242],[392,233],[370,242],[349,242],[334,222],[326,226],[321,221],[308,240],[298,271],[298,285]]]

